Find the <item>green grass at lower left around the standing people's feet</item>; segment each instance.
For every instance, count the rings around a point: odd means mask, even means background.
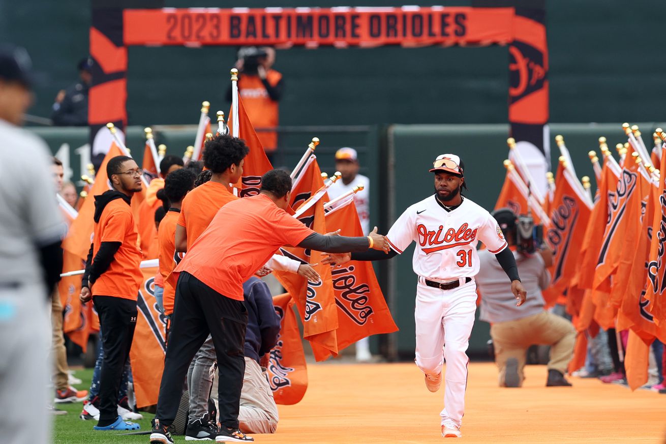
[[[77,385],[79,390],[88,390],[90,389],[90,382],[93,378],[93,370],[85,369],[78,370],[75,373],[76,377],[81,379],[83,383]],[[53,424],[53,442],[55,444],[134,444],[148,443],[147,435],[137,435],[137,436],[118,436],[120,433],[126,433],[123,431],[96,431],[93,430],[93,426],[97,425],[97,421],[83,421],[79,418],[81,409],[83,409],[83,403],[71,403],[71,404],[56,404],[56,407],[61,410],[66,410],[67,415],[55,415],[54,424]],[[136,421],[141,424],[141,431],[147,431],[151,429],[151,419],[153,419],[152,413],[141,412],[144,419],[141,421]],[[175,437],[177,441],[183,441],[183,437]]]

